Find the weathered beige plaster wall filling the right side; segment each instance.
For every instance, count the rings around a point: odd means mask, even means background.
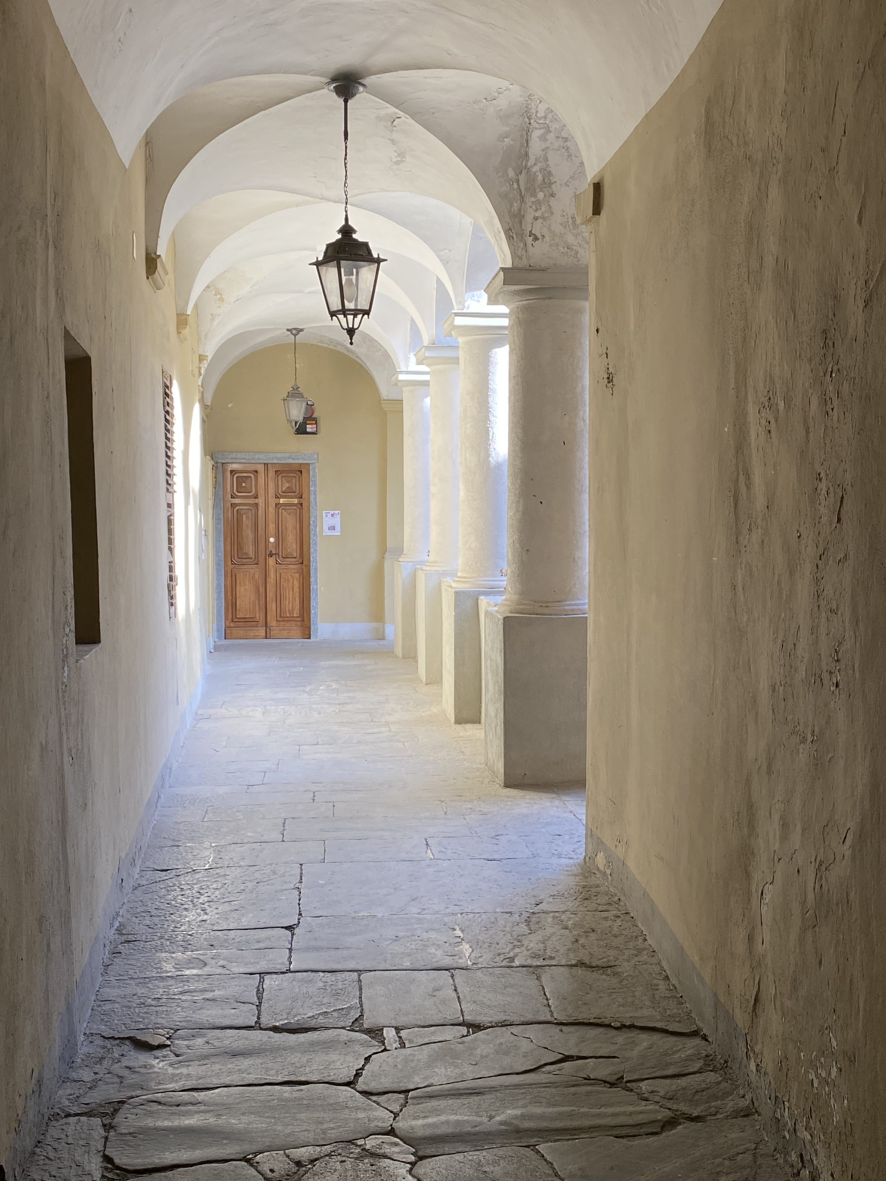
[[[886,1161],[885,104],[879,0],[727,0],[593,231],[591,850],[841,1181]]]

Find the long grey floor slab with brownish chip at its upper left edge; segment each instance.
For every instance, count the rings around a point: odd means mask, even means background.
[[[260,1083],[350,1083],[378,1044],[365,1033],[325,1030],[185,1032],[170,1049],[132,1046],[79,1100],[80,1108],[159,1091],[209,1090]]]

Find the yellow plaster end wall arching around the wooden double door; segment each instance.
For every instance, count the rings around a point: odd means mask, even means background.
[[[282,398],[292,385],[288,345],[249,353],[224,373],[207,419],[209,452],[315,451],[320,625],[385,619],[385,416],[378,386],[334,348],[299,345],[299,385],[315,404],[319,433],[293,435]],[[324,536],[324,509],[341,513],[341,535]]]

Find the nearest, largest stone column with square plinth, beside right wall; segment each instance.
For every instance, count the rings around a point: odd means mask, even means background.
[[[510,308],[508,578],[484,614],[486,759],[508,785],[585,781],[587,268],[501,270]]]

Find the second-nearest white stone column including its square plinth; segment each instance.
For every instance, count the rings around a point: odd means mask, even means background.
[[[508,313],[454,312],[443,331],[460,345],[458,569],[442,583],[443,710],[480,722],[481,598],[504,589],[508,489]]]

